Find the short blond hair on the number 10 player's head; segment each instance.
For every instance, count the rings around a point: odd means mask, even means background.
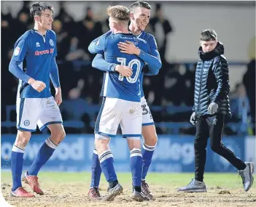
[[[128,21],[130,20],[130,11],[127,7],[116,5],[116,6],[109,6],[106,9],[107,15],[109,17],[112,17],[113,19],[117,21]]]

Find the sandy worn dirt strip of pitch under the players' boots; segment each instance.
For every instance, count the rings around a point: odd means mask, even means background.
[[[27,184],[23,184],[26,190],[30,191]],[[131,200],[131,186],[123,185],[123,195],[115,198],[114,202],[90,201],[87,197],[88,184],[72,182],[70,184],[51,184],[42,182],[42,190],[45,195],[36,195],[36,198],[9,198],[11,190],[10,183],[1,184],[1,192],[9,204],[19,207],[234,207],[234,206],[255,206],[256,190],[251,189],[244,192],[241,189],[223,189],[220,187],[210,187],[208,192],[185,193],[176,192],[174,187],[160,187],[150,185],[155,195],[155,200],[138,203]],[[220,194],[221,191],[228,190],[230,194]],[[106,192],[106,184],[102,184],[101,194]]]

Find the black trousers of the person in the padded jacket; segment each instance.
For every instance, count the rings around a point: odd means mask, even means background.
[[[195,179],[203,181],[204,166],[206,164],[206,146],[210,137],[211,148],[214,153],[221,155],[238,170],[245,169],[243,161],[227,147],[222,145],[222,130],[225,116],[222,114],[214,116],[202,116],[196,118],[195,148]]]

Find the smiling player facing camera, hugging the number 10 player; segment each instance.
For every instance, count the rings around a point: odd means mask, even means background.
[[[134,46],[130,41],[126,43],[120,42],[119,48],[121,52],[127,54],[136,54],[141,60],[147,62],[149,71],[145,71],[141,73],[140,79],[140,89],[141,89],[141,108],[142,112],[142,135],[144,137],[144,145],[142,147],[142,157],[143,157],[143,170],[142,170],[142,181],[141,181],[141,190],[144,192],[144,195],[147,195],[148,198],[153,198],[152,193],[150,192],[148,184],[145,182],[145,178],[147,175],[147,171],[150,167],[152,155],[155,150],[155,145],[158,142],[158,137],[155,132],[155,124],[152,119],[152,115],[150,113],[150,108],[147,105],[147,101],[144,98],[144,92],[142,88],[143,76],[146,74],[147,76],[157,75],[158,71],[161,68],[161,60],[158,52],[158,47],[155,42],[154,36],[152,34],[144,31],[145,27],[150,21],[150,11],[151,7],[145,1],[136,1],[131,5],[131,24],[129,25],[129,30],[139,38],[142,38],[147,41],[150,45],[150,54],[142,51],[141,49]],[[105,33],[103,36],[109,36],[111,31]],[[89,51],[91,47],[98,41],[92,41],[89,46]],[[125,77],[130,77],[133,73],[131,68],[123,65],[117,65],[112,62],[107,62],[104,60],[104,54],[97,54],[92,62],[93,68],[98,68],[103,71],[116,71],[120,73],[120,75]],[[93,151],[93,163],[92,163],[92,180],[90,185],[90,190],[88,192],[88,197],[91,199],[101,198],[100,193],[98,191],[98,185],[101,178],[101,167],[98,161],[97,151]]]

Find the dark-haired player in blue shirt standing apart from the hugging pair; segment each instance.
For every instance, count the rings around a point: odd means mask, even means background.
[[[66,136],[58,105],[61,104],[61,85],[58,76],[56,35],[51,30],[53,7],[44,2],[31,4],[31,15],[34,18],[34,29],[26,31],[15,43],[9,71],[19,78],[17,93],[17,129],[18,134],[12,147],[12,191],[11,196],[31,198],[34,194],[27,192],[21,184],[23,155],[36,131],[36,125],[42,130],[48,127],[51,135],[45,140],[39,152],[26,171],[23,181],[39,195],[44,192],[39,187],[38,172],[46,163],[58,144]],[[23,60],[26,58],[26,70]],[[55,98],[50,92],[50,79],[55,87]]]

